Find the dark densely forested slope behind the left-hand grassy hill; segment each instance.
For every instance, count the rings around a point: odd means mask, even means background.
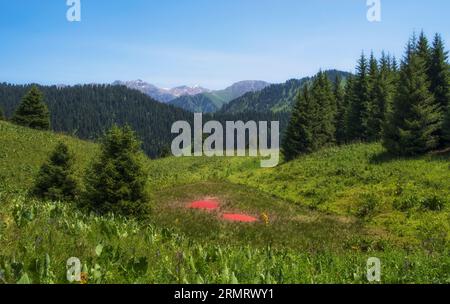
[[[182,109],[159,103],[125,86],[40,86],[51,113],[52,130],[96,139],[112,124],[129,124],[143,141],[145,152],[156,157],[171,142],[171,126],[191,120]],[[30,86],[0,84],[0,107],[12,117]]]

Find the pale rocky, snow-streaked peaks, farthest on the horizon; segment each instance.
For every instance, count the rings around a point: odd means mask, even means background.
[[[210,90],[202,88],[200,86],[180,86],[173,89],[162,89],[140,79],[133,81],[118,80],[113,82],[112,85],[123,85],[129,89],[138,90],[162,103],[168,103],[169,101],[172,101],[180,96],[191,96],[211,92]]]

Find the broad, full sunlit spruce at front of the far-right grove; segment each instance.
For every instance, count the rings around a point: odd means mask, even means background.
[[[393,112],[384,132],[384,146],[395,155],[412,156],[434,149],[440,113],[429,92],[426,64],[415,40],[408,43],[400,69]]]

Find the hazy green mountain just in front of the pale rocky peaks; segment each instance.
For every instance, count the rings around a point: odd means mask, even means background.
[[[190,112],[214,113],[231,100],[249,92],[257,92],[270,86],[270,83],[258,80],[237,82],[224,90],[203,92],[197,95],[180,96],[169,104]]]

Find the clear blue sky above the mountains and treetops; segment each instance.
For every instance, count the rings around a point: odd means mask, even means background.
[[[143,79],[161,87],[218,89],[273,83],[319,69],[354,69],[362,50],[401,56],[413,31],[450,42],[450,1],[0,0],[0,81],[76,84]]]

